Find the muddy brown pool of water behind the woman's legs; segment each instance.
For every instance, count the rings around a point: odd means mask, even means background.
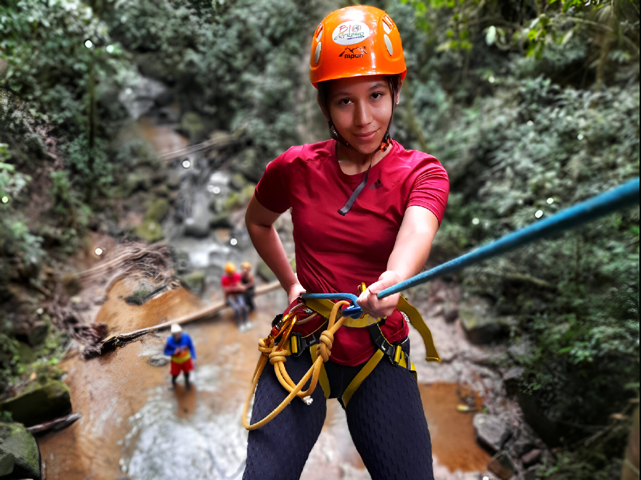
[[[203,306],[183,288],[141,306],[128,305],[126,296],[126,285],[114,284],[98,314],[112,332],[160,323]],[[162,351],[166,330],[99,358],[73,356],[62,362],[73,410],[83,417],[64,431],[38,438],[46,479],[239,478],[247,438],[240,409],[258,359],[256,345],[283,308],[285,295],[271,292],[256,300],[256,326],[247,333],[238,332],[228,311],[184,326],[198,357],[192,390],[180,381],[169,390],[169,365],[147,363]],[[474,441],[472,415],[456,411],[461,388],[435,383],[420,385],[420,392],[438,462],[451,471],[483,470],[489,457]],[[480,406],[478,397],[476,402]],[[369,478],[335,400],[328,403],[328,417],[302,478]]]

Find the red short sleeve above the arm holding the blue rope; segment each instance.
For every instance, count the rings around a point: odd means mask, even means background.
[[[435,214],[440,225],[447,206],[449,179],[442,164],[433,157],[430,159],[414,180],[406,208],[413,205],[424,207]]]

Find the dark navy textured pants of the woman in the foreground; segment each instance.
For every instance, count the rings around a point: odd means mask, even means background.
[[[288,356],[287,372],[299,381],[312,365],[308,351]],[[342,396],[360,367],[326,362],[330,397]],[[272,412],[287,396],[271,364],[256,387],[251,422]],[[249,432],[244,480],[297,480],[320,435],[327,412],[320,385],[306,405],[294,398],[275,419]],[[428,424],[412,373],[383,357],[345,408],[347,426],[372,480],[433,480]]]

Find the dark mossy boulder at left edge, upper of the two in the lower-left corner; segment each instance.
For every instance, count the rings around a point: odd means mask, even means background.
[[[63,417],[71,413],[69,387],[60,380],[49,380],[41,387],[3,401],[0,408],[28,427]]]

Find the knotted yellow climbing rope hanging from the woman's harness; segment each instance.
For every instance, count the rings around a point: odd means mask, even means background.
[[[341,300],[334,304],[333,308],[331,309],[331,314],[329,315],[327,330],[324,330],[324,332],[320,334],[320,343],[318,348],[320,356],[316,358],[315,362],[312,364],[312,367],[310,367],[310,369],[306,374],[304,374],[303,378],[301,378],[301,381],[299,381],[298,383],[294,383],[294,381],[287,374],[287,370],[285,370],[285,362],[287,362],[287,356],[291,354],[287,342],[289,339],[289,335],[292,332],[292,328],[294,328],[294,325],[297,321],[296,314],[294,314],[293,312],[287,314],[287,316],[283,317],[283,319],[281,320],[282,326],[281,328],[279,328],[278,332],[274,332],[274,330],[272,330],[272,332],[267,335],[267,338],[260,339],[258,341],[258,350],[260,351],[261,355],[258,359],[256,369],[254,370],[254,380],[251,384],[251,390],[249,390],[249,395],[247,396],[247,400],[245,401],[245,405],[242,410],[242,424],[247,430],[254,430],[267,424],[267,422],[274,419],[276,415],[282,412],[283,408],[285,408],[290,403],[290,401],[294,399],[294,397],[303,399],[303,401],[305,401],[305,403],[307,404],[311,403],[312,398],[310,396],[312,395],[312,392],[314,391],[318,383],[320,368],[322,367],[323,362],[327,362],[329,360],[329,356],[331,355],[331,346],[334,342],[334,333],[336,333],[338,328],[342,326],[346,318],[341,316],[338,321],[336,320],[338,309],[342,305],[349,305],[349,301]],[[278,342],[278,345],[276,345],[275,339],[280,335],[282,335],[281,340]],[[258,380],[260,379],[260,375],[262,374],[268,359],[269,362],[274,365],[274,371],[276,371],[278,381],[280,381],[281,385],[283,385],[283,387],[289,392],[289,395],[285,397],[285,400],[283,400],[281,404],[279,404],[279,406],[274,408],[274,410],[272,410],[272,412],[267,415],[267,417],[260,420],[260,422],[256,422],[250,425],[247,421],[247,411],[249,410],[249,403],[254,396],[256,385],[258,385]],[[305,385],[305,383],[307,383],[308,380],[310,380],[310,378],[312,378],[310,387],[307,388],[307,390],[304,390],[304,392],[301,392],[301,390],[303,390],[303,386]]]

